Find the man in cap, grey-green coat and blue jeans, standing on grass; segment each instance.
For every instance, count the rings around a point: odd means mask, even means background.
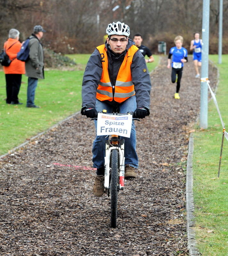
[[[28,76],[27,108],[39,108],[35,105],[35,89],[38,78],[44,79],[44,54],[40,39],[46,32],[42,26],[36,25],[33,34],[29,37],[29,60],[25,62],[26,76]]]

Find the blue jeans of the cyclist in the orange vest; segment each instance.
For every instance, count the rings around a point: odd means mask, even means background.
[[[136,97],[131,96],[127,100],[125,100],[120,106],[120,113],[127,113],[130,111],[135,111],[137,107],[136,104]],[[107,113],[112,113],[112,106],[110,106],[108,103],[96,100],[96,109],[97,111],[102,111],[103,109],[107,110]],[[95,128],[97,131],[97,121],[95,121]],[[105,157],[105,138],[104,136],[96,136],[94,142],[93,142],[93,167],[94,168],[101,168],[104,166],[104,157]],[[135,168],[138,168],[138,156],[136,153],[136,131],[135,131],[135,124],[134,121],[132,121],[131,126],[131,135],[130,138],[123,138],[125,140],[124,144],[124,156],[125,156],[125,165],[129,164],[130,166],[133,166]]]

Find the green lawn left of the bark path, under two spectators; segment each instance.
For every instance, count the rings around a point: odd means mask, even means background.
[[[90,54],[67,55],[78,64],[75,70],[47,70],[38,81],[35,104],[41,108],[26,108],[27,80],[22,76],[19,100],[23,105],[5,103],[5,76],[0,71],[0,155],[19,146],[27,139],[81,109],[82,77]],[[159,56],[148,64],[149,71],[158,64]]]

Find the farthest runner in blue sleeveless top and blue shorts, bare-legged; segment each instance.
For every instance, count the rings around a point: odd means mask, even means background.
[[[194,33],[194,40],[191,41],[190,51],[193,51],[193,63],[196,71],[196,78],[200,78],[199,67],[201,67],[201,49],[202,39],[200,39],[200,33]]]

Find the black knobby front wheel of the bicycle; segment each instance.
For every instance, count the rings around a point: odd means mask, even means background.
[[[110,184],[110,194],[111,194],[111,227],[116,228],[116,218],[117,218],[117,200],[118,200],[118,150],[112,150],[112,160],[111,160],[111,184]]]

